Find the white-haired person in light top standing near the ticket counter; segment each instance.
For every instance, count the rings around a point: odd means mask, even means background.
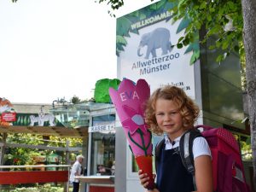
[[[83,160],[84,160],[84,156],[78,155],[77,160],[73,164],[70,172],[69,181],[73,183],[73,192],[79,192],[79,179],[75,177],[83,175],[83,166],[82,166]]]

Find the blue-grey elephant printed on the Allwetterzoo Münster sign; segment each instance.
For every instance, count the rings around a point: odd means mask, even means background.
[[[168,29],[160,27],[154,29],[152,32],[147,32],[143,34],[139,47],[137,49],[137,55],[142,56],[141,54],[141,48],[143,48],[145,45],[148,46],[147,53],[145,55],[145,59],[148,59],[150,53],[152,57],[156,57],[156,51],[155,49],[162,49],[162,55],[166,55],[169,52],[171,52],[171,42],[170,42],[170,32]]]

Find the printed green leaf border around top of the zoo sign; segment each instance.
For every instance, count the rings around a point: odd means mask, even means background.
[[[138,34],[137,27],[135,27],[135,29],[132,29],[132,24],[176,8],[177,2],[170,2],[167,0],[160,1],[158,3],[149,5],[144,9],[134,11],[129,15],[125,15],[119,18],[119,21],[117,22],[116,55],[119,56],[119,53],[124,50],[124,47],[127,44],[125,37],[130,37],[130,32]],[[166,21],[171,19],[172,16],[166,18]],[[190,51],[193,52],[190,59],[190,64],[193,64],[200,55],[198,31],[189,33],[189,30],[192,28],[192,26],[193,25],[191,24],[191,19],[188,16],[184,16],[177,27],[176,33],[183,32],[185,30],[185,36],[179,38],[178,41],[172,45],[177,46],[178,49],[182,49],[183,47],[189,45],[188,48],[185,50],[184,54],[187,54]]]

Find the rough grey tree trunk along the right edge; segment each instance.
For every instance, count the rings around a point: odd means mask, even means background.
[[[253,150],[253,182],[256,183],[256,2],[241,0],[243,15],[243,43],[246,53],[247,95]]]

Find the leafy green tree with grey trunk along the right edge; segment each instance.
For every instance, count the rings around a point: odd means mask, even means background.
[[[123,0],[100,0],[108,2],[113,10],[124,5]],[[162,2],[162,1],[161,1]],[[156,3],[156,6],[161,2]],[[169,0],[173,20],[189,20],[185,35],[177,41],[177,48],[193,44],[196,34],[204,31],[200,44],[208,38],[218,37],[216,44],[208,49],[221,49],[217,61],[223,61],[230,52],[239,53],[246,62],[247,95],[253,150],[253,182],[256,186],[256,2],[255,0]],[[244,59],[245,58],[245,59]]]

